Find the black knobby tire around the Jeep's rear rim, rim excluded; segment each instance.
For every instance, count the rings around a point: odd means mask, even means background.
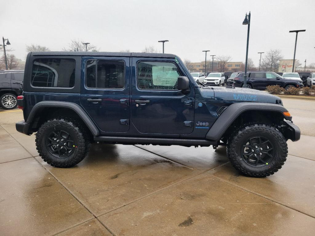
[[[58,158],[46,147],[46,138],[54,129],[62,129],[71,133],[76,148],[70,156]],[[66,168],[77,165],[89,152],[90,140],[85,127],[80,121],[71,117],[54,118],[44,122],[36,133],[36,149],[41,158],[51,166]]]

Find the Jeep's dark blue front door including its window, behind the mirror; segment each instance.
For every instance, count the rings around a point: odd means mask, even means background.
[[[190,134],[194,121],[194,90],[177,89],[184,76],[175,59],[132,58],[132,123],[141,133]]]

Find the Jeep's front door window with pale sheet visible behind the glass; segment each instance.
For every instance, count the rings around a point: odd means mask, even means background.
[[[172,62],[139,62],[138,86],[140,89],[177,89],[180,72]]]

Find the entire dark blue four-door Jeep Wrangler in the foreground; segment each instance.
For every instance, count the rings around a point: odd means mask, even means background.
[[[37,132],[39,155],[56,167],[78,164],[90,143],[223,145],[237,170],[264,177],[300,139],[279,97],[206,86],[166,53],[28,53],[18,104],[16,130]]]

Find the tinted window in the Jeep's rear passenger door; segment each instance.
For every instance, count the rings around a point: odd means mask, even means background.
[[[96,68],[97,71],[95,70]],[[88,61],[86,67],[86,85],[91,88],[125,87],[124,62],[106,60]]]

